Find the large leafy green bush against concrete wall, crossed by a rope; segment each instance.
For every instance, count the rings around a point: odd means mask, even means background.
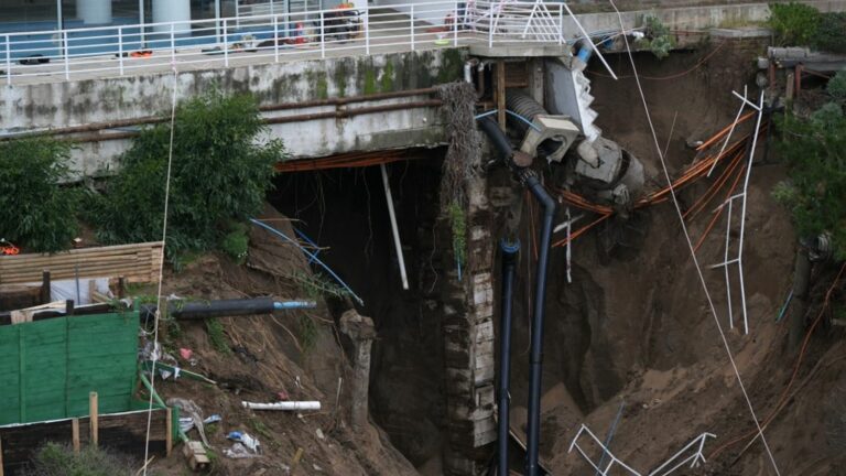
[[[213,90],[176,108],[166,246],[172,262],[213,249],[225,239],[225,224],[261,210],[273,164],[285,158],[280,141],[259,142],[264,132],[251,96]],[[161,239],[170,140],[165,121],[144,130],[120,158],[120,173],[89,207],[100,240]]]

